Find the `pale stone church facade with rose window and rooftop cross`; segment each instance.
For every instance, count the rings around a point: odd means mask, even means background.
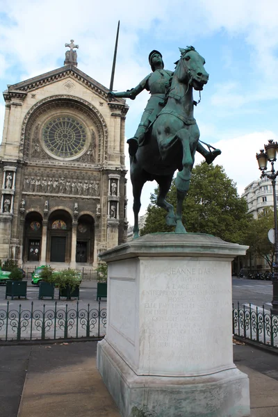
[[[3,92],[0,259],[97,266],[126,241],[124,99],[65,65]]]

